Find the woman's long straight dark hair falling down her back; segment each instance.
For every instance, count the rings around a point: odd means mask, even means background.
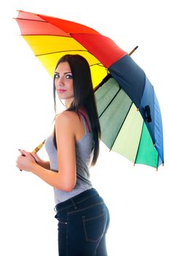
[[[93,131],[93,140],[94,140],[94,152],[93,152],[93,161],[91,165],[95,165],[98,154],[99,154],[99,142],[101,139],[101,127],[98,120],[98,111],[95,104],[95,95],[93,91],[93,83],[90,73],[90,66],[84,57],[80,55],[70,55],[67,54],[59,59],[55,69],[57,69],[58,65],[63,62],[68,62],[71,73],[73,76],[73,88],[74,88],[74,100],[71,102],[70,107],[67,111],[75,111],[78,113],[78,109],[80,107],[84,107],[87,111],[87,115],[90,118],[90,123]],[[53,96],[54,103],[55,102],[55,77],[53,82]],[[55,108],[56,109],[56,108]],[[53,141],[56,145],[55,138],[55,129],[53,132]]]

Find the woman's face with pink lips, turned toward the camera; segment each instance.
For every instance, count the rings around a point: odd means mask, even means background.
[[[66,106],[74,100],[73,77],[68,62],[58,64],[55,69],[55,89],[60,99],[65,99]]]

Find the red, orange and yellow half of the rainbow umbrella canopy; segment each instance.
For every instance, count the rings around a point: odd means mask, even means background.
[[[79,23],[22,11],[16,20],[23,38],[52,77],[61,56],[80,54],[90,64],[95,87],[107,75],[112,60],[127,54],[109,37]]]

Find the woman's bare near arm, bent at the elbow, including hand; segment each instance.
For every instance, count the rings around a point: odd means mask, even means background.
[[[72,113],[63,112],[57,116],[55,129],[58,146],[58,173],[38,165],[31,153],[26,151],[21,152],[25,154],[25,157],[18,157],[17,167],[21,170],[31,171],[52,187],[71,191],[76,184],[75,136]]]

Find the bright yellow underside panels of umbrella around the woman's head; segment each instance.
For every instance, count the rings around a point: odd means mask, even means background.
[[[107,70],[103,64],[72,37],[28,35],[23,36],[23,38],[51,77],[53,77],[56,63],[65,54],[80,54],[87,59],[90,64],[94,88],[107,75]]]

